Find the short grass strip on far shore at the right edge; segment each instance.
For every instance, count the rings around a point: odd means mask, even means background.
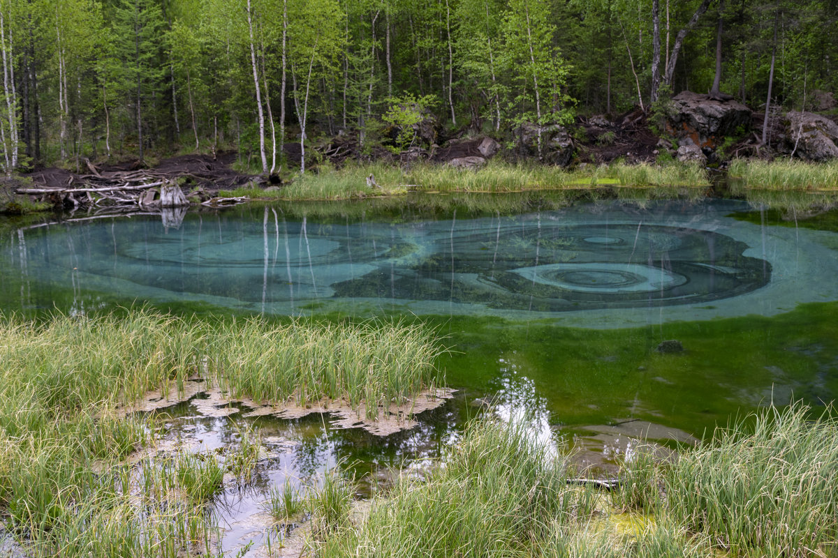
[[[748,190],[838,190],[838,161],[734,159],[727,174]]]

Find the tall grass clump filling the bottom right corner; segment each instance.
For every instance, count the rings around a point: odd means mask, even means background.
[[[803,405],[772,407],[716,431],[709,445],[665,470],[668,513],[734,553],[838,550],[838,423],[832,411],[811,421]]]

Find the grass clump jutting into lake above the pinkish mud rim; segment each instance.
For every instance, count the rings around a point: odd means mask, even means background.
[[[220,385],[234,397],[299,405],[323,399],[366,408],[399,404],[439,381],[442,352],[422,325],[358,325],[251,319],[218,325],[208,351]]]

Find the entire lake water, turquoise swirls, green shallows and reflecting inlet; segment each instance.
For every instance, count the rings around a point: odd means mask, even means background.
[[[607,466],[649,423],[662,440],[701,438],[770,402],[821,405],[838,393],[834,227],[720,199],[429,199],[251,204],[189,212],[178,227],[142,215],[9,226],[0,300],[24,315],[147,303],[277,320],[397,317],[446,335],[452,352],[439,364],[458,397],[411,431],[247,419],[293,443],[275,448],[255,491],[225,495],[227,548],[252,537],[252,522],[237,522],[271,483],[339,459],[370,484],[388,467],[419,466],[484,401],[502,416],[530,412],[544,437]],[[684,351],[658,351],[664,340]],[[173,431],[208,448],[235,440],[245,420],[200,416],[189,402],[167,412]]]

